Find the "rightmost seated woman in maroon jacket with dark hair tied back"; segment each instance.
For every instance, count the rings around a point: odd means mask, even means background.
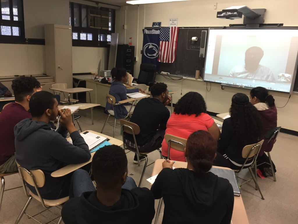
[[[270,152],[272,150],[274,139],[272,139],[268,144],[268,139],[265,139],[264,136],[268,130],[277,127],[277,110],[274,103],[275,100],[272,95],[269,95],[268,90],[264,87],[256,87],[250,90],[249,100],[252,105],[257,108],[262,121],[261,139],[264,139],[264,142],[260,150],[258,159],[270,164],[269,157],[264,152]],[[266,167],[266,164],[264,164],[258,168],[265,177],[268,173],[272,173],[270,165]],[[274,163],[273,168],[274,172],[276,172]],[[272,176],[272,174],[270,175]]]

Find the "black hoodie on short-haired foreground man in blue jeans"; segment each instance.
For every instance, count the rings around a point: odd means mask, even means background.
[[[68,200],[61,216],[65,224],[151,224],[154,217],[154,197],[148,188],[122,189],[121,197],[112,206],[100,203],[96,191]]]

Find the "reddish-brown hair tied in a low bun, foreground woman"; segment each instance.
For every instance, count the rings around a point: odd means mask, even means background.
[[[213,164],[217,143],[207,131],[195,131],[186,142],[186,157],[197,173],[208,172]]]

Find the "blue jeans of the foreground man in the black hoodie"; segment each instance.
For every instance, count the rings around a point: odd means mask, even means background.
[[[131,177],[127,177],[123,189],[134,189],[136,188],[136,182]],[[95,191],[95,187],[86,170],[78,169],[72,174],[70,181],[69,198],[80,197],[86,191]]]

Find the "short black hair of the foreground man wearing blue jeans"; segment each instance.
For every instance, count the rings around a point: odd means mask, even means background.
[[[127,157],[118,145],[106,145],[92,159],[92,174],[97,184],[109,188],[127,171]]]

